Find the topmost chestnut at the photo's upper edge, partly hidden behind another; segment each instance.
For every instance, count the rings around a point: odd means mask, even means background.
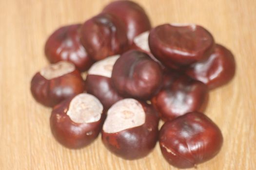
[[[103,12],[115,15],[125,23],[129,43],[134,37],[151,29],[150,20],[144,9],[130,0],[117,0],[108,4]]]

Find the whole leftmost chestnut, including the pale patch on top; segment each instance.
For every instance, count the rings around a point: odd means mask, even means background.
[[[31,92],[37,102],[53,107],[84,91],[81,74],[72,63],[61,61],[37,72],[31,81]]]

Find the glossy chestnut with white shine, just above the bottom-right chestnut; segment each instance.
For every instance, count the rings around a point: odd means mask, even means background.
[[[165,74],[163,80],[163,88],[151,100],[161,119],[171,120],[206,108],[207,85],[176,72]]]

